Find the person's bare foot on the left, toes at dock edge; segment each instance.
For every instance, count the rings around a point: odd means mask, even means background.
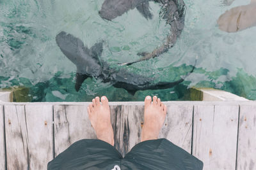
[[[100,100],[102,104],[100,104]],[[100,97],[95,97],[87,110],[97,138],[114,146],[114,133],[110,122],[110,109],[107,97],[102,96],[101,99]]]

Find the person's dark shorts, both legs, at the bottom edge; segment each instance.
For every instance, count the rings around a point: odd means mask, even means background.
[[[200,170],[203,169],[203,162],[167,139],[138,143],[124,158],[109,143],[99,139],[83,139],[49,162],[47,169]]]

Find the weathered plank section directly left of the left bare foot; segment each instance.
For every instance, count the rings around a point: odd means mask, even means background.
[[[54,106],[55,156],[80,139],[97,139],[87,107],[88,105]]]

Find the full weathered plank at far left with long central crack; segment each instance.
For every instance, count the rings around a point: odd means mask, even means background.
[[[53,158],[52,106],[4,106],[8,169],[47,169]]]

